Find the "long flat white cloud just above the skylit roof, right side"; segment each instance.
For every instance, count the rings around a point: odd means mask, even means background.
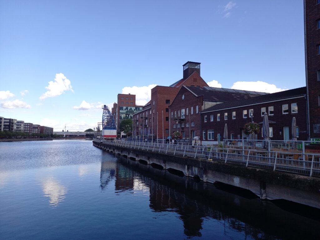
[[[281,92],[288,89],[277,88],[274,84],[268,84],[265,82],[257,81],[257,82],[235,82],[232,89],[239,89],[239,90],[248,90],[248,91],[255,91],[255,92]]]

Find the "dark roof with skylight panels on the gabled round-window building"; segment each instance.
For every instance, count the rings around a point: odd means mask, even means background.
[[[265,95],[265,92],[252,92],[252,91],[243,91],[236,89],[228,88],[212,88],[212,87],[191,87],[184,86],[189,91],[196,94],[196,96],[202,96],[203,100],[211,102],[230,102],[235,100],[241,100],[246,98],[252,98],[259,96],[261,94]]]

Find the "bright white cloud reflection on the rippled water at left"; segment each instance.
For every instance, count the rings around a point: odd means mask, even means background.
[[[59,202],[63,201],[67,193],[67,188],[53,178],[49,178],[43,182],[44,196],[49,197],[49,205],[52,207],[58,206]]]

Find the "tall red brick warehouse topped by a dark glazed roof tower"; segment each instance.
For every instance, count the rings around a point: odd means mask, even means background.
[[[153,89],[151,89],[151,100],[150,100],[150,109],[148,110],[149,111],[148,118],[150,121],[150,112],[151,112],[151,115],[153,115],[152,121],[154,124],[153,133],[151,132],[151,134],[153,134],[155,138],[164,139],[169,136],[169,107],[168,106],[172,103],[176,94],[178,93],[178,91],[183,85],[198,86],[198,87],[208,86],[208,84],[200,76],[199,62],[188,61],[185,64],[183,64],[182,67],[183,67],[182,79],[173,83],[170,86],[155,86]],[[142,119],[139,120],[140,117],[146,118],[146,116],[143,115],[144,112],[145,110],[135,113],[133,116],[133,119],[138,119],[138,121],[141,122]],[[140,113],[142,114],[141,116],[140,116]],[[162,118],[162,113],[163,113],[163,118]],[[141,131],[141,129],[139,131]],[[134,130],[134,132],[136,132],[136,130]]]

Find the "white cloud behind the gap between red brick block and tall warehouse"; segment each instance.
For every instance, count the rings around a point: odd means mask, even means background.
[[[151,89],[154,88],[156,84],[151,84],[149,86],[142,87],[124,87],[122,89],[123,94],[135,94],[136,95],[136,105],[145,105],[151,99]],[[113,104],[113,103],[112,103]]]

